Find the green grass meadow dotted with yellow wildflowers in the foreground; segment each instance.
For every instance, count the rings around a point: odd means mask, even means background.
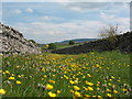
[[[130,55],[2,56],[3,97],[129,97]]]

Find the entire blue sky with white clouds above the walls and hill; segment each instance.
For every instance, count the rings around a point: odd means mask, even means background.
[[[99,31],[109,24],[118,23],[122,32],[130,30],[129,2],[8,1],[0,8],[0,21],[38,43],[98,37]]]

